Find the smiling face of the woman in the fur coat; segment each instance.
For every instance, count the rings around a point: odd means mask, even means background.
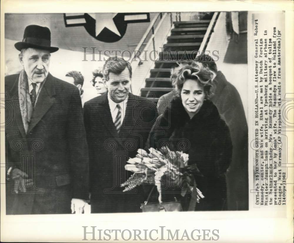
[[[197,80],[187,79],[181,90],[181,98],[186,112],[192,118],[203,105],[205,99],[203,86]]]

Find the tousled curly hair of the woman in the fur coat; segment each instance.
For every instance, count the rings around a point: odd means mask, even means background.
[[[176,96],[181,96],[181,91],[184,82],[187,79],[198,81],[204,88],[204,93],[207,99],[213,96],[214,84],[212,82],[215,74],[204,67],[201,63],[179,64],[171,70],[171,82],[176,90]]]

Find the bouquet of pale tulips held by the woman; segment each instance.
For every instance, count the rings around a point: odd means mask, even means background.
[[[188,159],[188,154],[170,151],[166,147],[161,148],[160,151],[150,148],[149,153],[143,149],[138,149],[136,157],[129,158],[128,164],[125,166],[125,169],[132,171],[133,175],[122,183],[121,187],[125,187],[123,191],[129,191],[141,184],[155,184],[159,193],[158,200],[161,203],[161,180],[165,175],[173,180],[176,185],[185,185],[187,189],[190,189],[192,192],[191,200],[194,200],[193,203],[196,204],[201,198],[204,198],[201,191],[196,188],[193,177],[194,172],[200,172],[196,165],[188,166]],[[182,170],[183,173],[181,168],[186,168]],[[184,195],[185,193],[182,193],[182,196]]]

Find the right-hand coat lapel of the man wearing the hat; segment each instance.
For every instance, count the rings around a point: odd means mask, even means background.
[[[41,118],[52,106],[55,101],[54,95],[54,77],[49,73],[43,87],[41,88],[38,100],[34,107],[34,112],[31,118],[31,122],[29,124],[28,133],[34,128],[34,126],[36,126],[36,124],[38,124]]]

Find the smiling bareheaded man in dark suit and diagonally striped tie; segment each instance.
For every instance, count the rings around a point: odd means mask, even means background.
[[[130,93],[131,77],[130,63],[110,57],[103,66],[108,92],[84,104],[92,213],[140,212],[146,200],[141,186],[120,187],[132,174],[126,161],[145,146],[157,116],[156,104]]]

